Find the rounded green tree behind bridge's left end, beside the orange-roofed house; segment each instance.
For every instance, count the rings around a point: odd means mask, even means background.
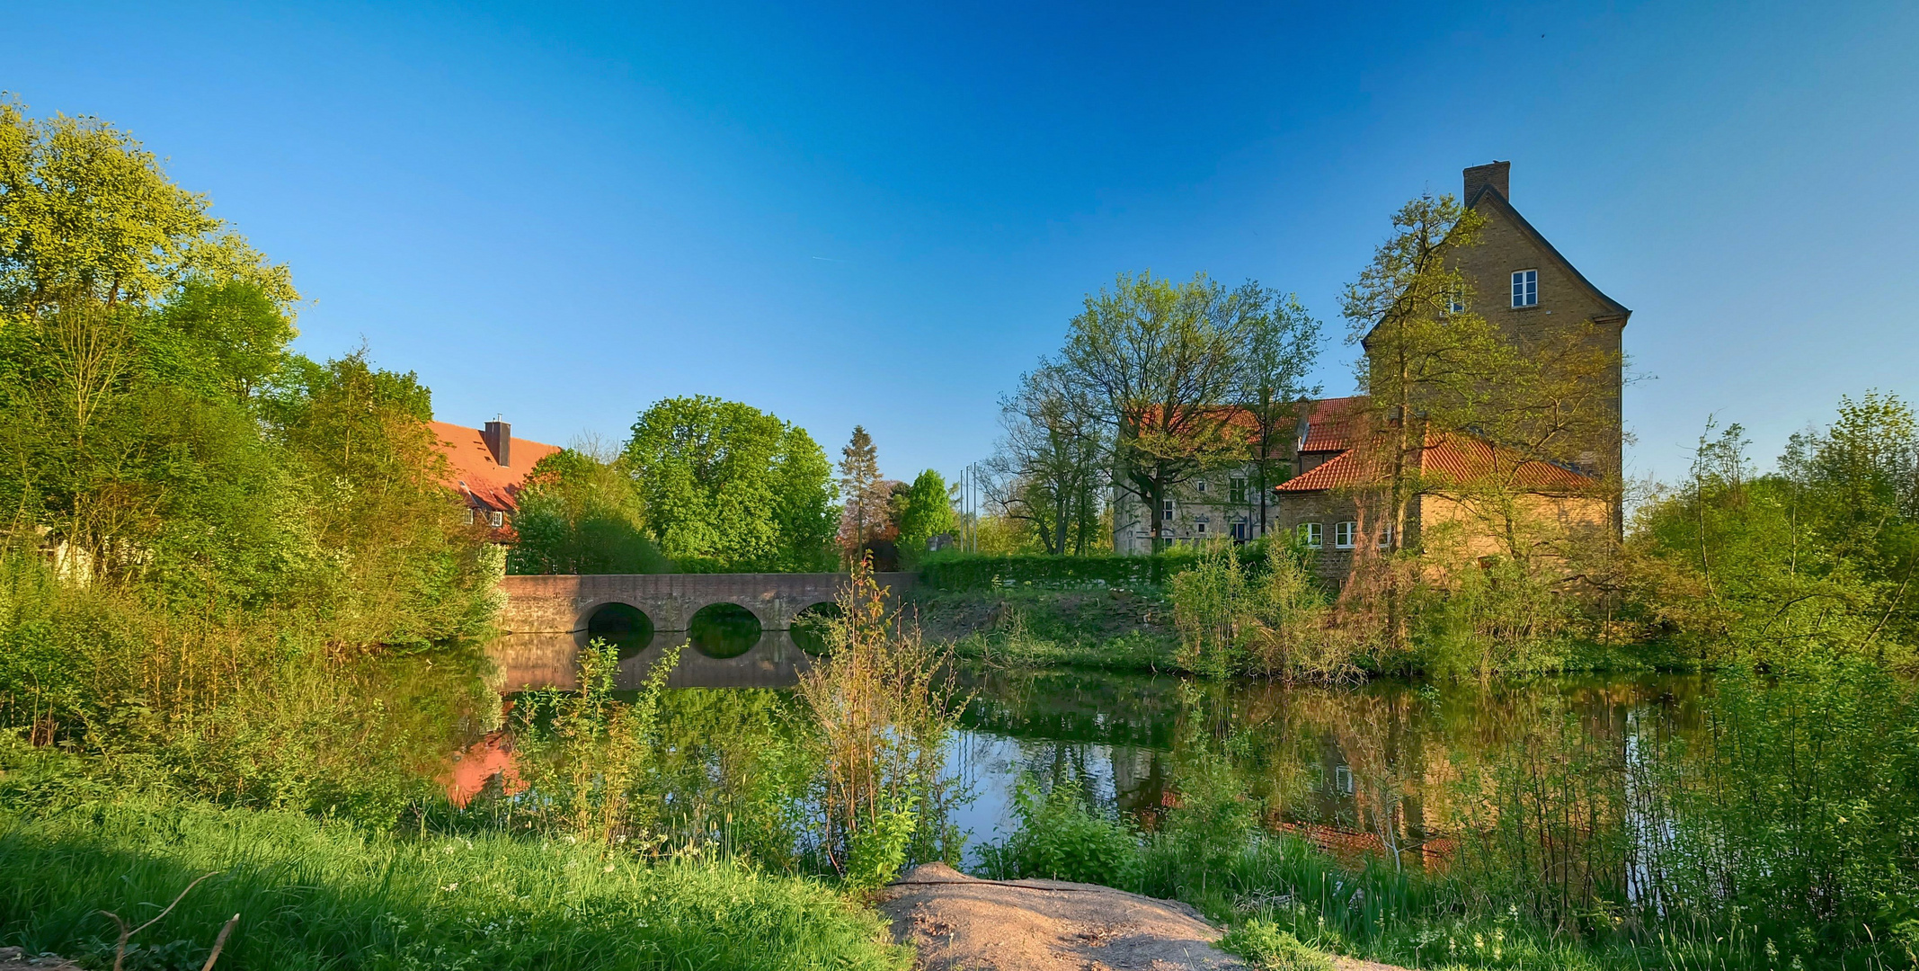
[[[547,455],[526,476],[509,574],[658,574],[633,480],[581,449]]]

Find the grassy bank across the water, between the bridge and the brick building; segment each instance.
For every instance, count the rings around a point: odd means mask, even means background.
[[[910,610],[927,639],[981,666],[1178,670],[1173,604],[1155,587],[921,587]]]

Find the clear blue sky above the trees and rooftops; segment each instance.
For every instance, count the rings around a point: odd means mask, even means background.
[[[917,8],[917,10],[910,10]],[[1349,8],[1349,10],[1341,10]],[[1919,6],[17,4],[0,86],[109,119],[438,416],[620,441],[710,393],[990,451],[1088,290],[1338,294],[1422,190],[1514,203],[1631,307],[1639,474],[1919,395]],[[1332,342],[1330,393],[1351,388]]]

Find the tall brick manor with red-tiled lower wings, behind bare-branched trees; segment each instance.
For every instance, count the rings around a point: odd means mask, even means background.
[[[1458,249],[1457,269],[1472,284],[1474,311],[1499,326],[1510,340],[1545,340],[1558,332],[1585,332],[1600,351],[1618,361],[1625,320],[1620,301],[1602,294],[1547,238],[1512,207],[1508,175],[1512,165],[1495,161],[1464,171],[1464,205],[1485,217],[1480,244]],[[1577,330],[1575,330],[1577,328]],[[1616,493],[1604,497],[1599,486],[1623,466],[1623,424],[1620,418],[1622,374],[1614,367],[1599,378],[1599,397],[1606,403],[1610,432],[1599,451],[1566,464],[1524,461],[1495,453],[1495,445],[1464,434],[1428,436],[1418,457],[1422,470],[1470,478],[1493,466],[1510,470],[1529,495],[1529,505],[1560,522],[1618,528]],[[1378,480],[1355,453],[1364,432],[1366,397],[1326,397],[1299,403],[1297,434],[1288,441],[1276,486],[1267,495],[1267,532],[1288,532],[1320,551],[1320,572],[1341,576],[1361,543],[1353,487]],[[1161,539],[1197,545],[1211,539],[1249,541],[1259,537],[1261,497],[1253,468],[1211,470],[1180,486],[1167,499]],[[1115,489],[1113,549],[1151,551],[1151,514],[1138,499]],[[1410,528],[1464,518],[1464,509],[1447,499],[1422,497],[1410,510]],[[1414,537],[1407,537],[1412,541]],[[1481,545],[1481,543],[1468,543]]]

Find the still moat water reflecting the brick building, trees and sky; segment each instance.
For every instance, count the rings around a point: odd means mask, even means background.
[[[745,647],[662,631],[622,652],[620,685],[639,687],[675,649],[668,710],[794,708],[791,685],[812,656],[787,631]],[[1268,831],[1403,865],[1445,865],[1455,835],[1483,823],[1472,814],[1493,773],[1512,766],[1575,783],[1589,789],[1581,800],[1618,802],[1631,816],[1633,760],[1654,735],[1696,727],[1702,689],[1694,675],[1286,687],[1082,670],[973,672],[960,683],[971,700],[946,758],[961,794],[948,821],[967,835],[969,856],[1017,825],[1013,796],[1029,781],[1073,785],[1142,829],[1224,793]],[[670,745],[720,762],[733,758],[725,748],[758,745],[716,739],[729,731],[725,720],[668,723],[687,735]]]

